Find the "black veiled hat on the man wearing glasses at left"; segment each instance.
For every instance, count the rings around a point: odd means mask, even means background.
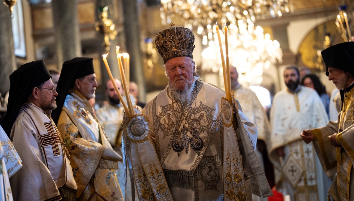
[[[10,91],[3,125],[8,137],[10,137],[18,111],[32,94],[33,88],[51,77],[43,59],[23,64],[10,75]]]

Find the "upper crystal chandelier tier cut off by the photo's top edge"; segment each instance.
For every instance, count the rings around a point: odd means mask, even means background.
[[[162,24],[171,23],[175,14],[183,17],[185,27],[198,28],[198,34],[212,40],[212,27],[221,24],[236,24],[240,19],[255,22],[267,15],[281,17],[293,11],[291,0],[161,0]]]

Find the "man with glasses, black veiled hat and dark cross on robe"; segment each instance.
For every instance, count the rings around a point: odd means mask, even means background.
[[[70,155],[50,117],[57,95],[43,60],[10,75],[4,128],[23,161],[10,178],[14,200],[76,200]]]

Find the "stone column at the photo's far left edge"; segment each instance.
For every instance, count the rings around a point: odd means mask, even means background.
[[[0,4],[0,93],[10,89],[9,75],[16,70],[15,48],[13,47],[11,14],[8,7]]]

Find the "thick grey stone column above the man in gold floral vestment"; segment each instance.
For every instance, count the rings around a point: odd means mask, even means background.
[[[81,57],[77,0],[52,0],[58,69],[65,61]]]

